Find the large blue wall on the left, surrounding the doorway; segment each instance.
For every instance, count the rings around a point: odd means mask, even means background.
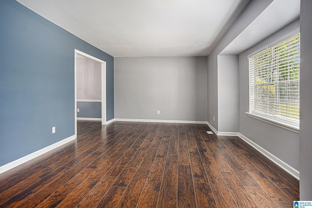
[[[106,61],[113,119],[114,57],[19,2],[0,0],[0,166],[75,134],[75,49]]]

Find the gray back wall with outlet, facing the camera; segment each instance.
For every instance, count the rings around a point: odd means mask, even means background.
[[[115,118],[207,121],[206,57],[116,57]]]

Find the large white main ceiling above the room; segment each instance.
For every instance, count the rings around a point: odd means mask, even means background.
[[[207,56],[250,0],[18,0],[113,57]]]

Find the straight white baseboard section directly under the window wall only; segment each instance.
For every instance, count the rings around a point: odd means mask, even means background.
[[[275,155],[273,155],[272,153],[270,153],[269,151],[266,151],[265,149],[263,149],[262,147],[260,147],[259,145],[257,145],[256,143],[254,143],[252,140],[248,139],[246,136],[244,136],[243,134],[239,133],[238,136],[244,140],[245,142],[247,142],[250,146],[252,146],[254,149],[256,149],[257,151],[259,151],[261,154],[263,154],[264,156],[266,156],[268,159],[270,159],[273,163],[275,163],[276,165],[278,165],[279,167],[281,167],[282,169],[286,170],[289,174],[291,174],[293,177],[295,177],[296,179],[299,180],[299,171],[295,170],[294,168],[292,168],[290,165],[288,165],[287,163],[285,163],[284,161],[282,161],[281,159],[279,159],[278,157],[276,157]]]

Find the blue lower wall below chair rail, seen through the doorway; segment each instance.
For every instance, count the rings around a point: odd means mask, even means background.
[[[80,118],[101,118],[102,103],[101,102],[77,102],[77,117]]]

